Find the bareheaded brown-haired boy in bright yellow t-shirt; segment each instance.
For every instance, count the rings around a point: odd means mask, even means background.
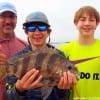
[[[94,37],[99,23],[100,15],[94,7],[81,7],[74,16],[78,39],[60,47],[66,57],[77,62],[80,72],[71,100],[100,100],[100,40]]]

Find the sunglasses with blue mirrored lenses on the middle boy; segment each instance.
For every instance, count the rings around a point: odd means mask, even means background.
[[[26,26],[25,29],[29,32],[35,32],[36,29],[43,32],[43,31],[48,30],[48,26],[47,25],[31,25],[31,26]]]

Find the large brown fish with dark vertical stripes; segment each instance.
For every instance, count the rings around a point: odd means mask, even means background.
[[[6,65],[0,65],[0,79],[16,76],[21,79],[32,68],[39,70],[43,76],[41,83],[46,87],[58,84],[63,72],[70,70],[78,79],[78,70],[56,48],[41,48],[8,59]]]

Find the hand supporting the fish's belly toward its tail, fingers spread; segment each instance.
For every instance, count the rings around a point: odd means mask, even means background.
[[[19,92],[23,92],[25,90],[41,87],[42,83],[40,83],[40,81],[42,79],[42,76],[38,76],[38,74],[39,70],[36,69],[28,71],[20,80],[17,80],[15,85],[16,89]]]

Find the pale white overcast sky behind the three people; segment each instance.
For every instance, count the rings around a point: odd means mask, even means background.
[[[27,40],[22,24],[28,14],[35,11],[44,12],[51,25],[51,42],[64,43],[77,39],[78,32],[73,23],[75,12],[82,6],[90,5],[100,12],[100,0],[0,0],[11,2],[16,6],[18,21],[15,33],[21,39]],[[100,39],[100,25],[95,37]]]

